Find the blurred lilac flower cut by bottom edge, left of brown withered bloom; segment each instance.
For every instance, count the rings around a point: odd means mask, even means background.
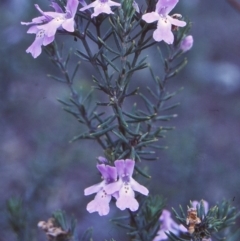
[[[178,225],[172,218],[171,213],[163,209],[162,215],[159,218],[160,221],[160,229],[157,233],[157,236],[153,239],[153,241],[161,241],[168,239],[168,236],[165,234],[165,232],[170,231],[174,233],[175,235],[179,234],[179,231],[186,232],[187,229],[183,225]]]

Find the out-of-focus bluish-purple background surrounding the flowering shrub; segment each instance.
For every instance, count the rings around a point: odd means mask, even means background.
[[[80,236],[93,227],[94,240],[124,240],[122,230],[109,222],[122,214],[113,204],[110,215],[101,218],[85,209],[94,196],[84,197],[83,190],[99,182],[96,157],[103,151],[91,141],[69,143],[83,129],[56,100],[67,99],[69,90],[47,78],[59,72],[44,52],[36,60],[25,53],[34,36],[20,21],[38,16],[34,3],[49,9],[47,0],[0,2],[0,240],[16,240],[6,212],[10,197],[21,197],[29,211],[31,240],[44,240],[37,223],[59,209],[77,218]],[[176,129],[161,140],[169,148],[159,152],[157,162],[142,164],[150,164],[152,176],[143,183],[167,198],[168,209],[200,199],[210,206],[226,199],[240,208],[240,12],[225,0],[180,0],[172,13],[192,21],[194,47],[187,67],[167,87],[184,87],[173,100],[181,102],[174,110],[178,117],[166,123]],[[157,69],[155,50],[148,55]],[[77,88],[89,90],[91,75],[83,63]],[[137,78],[141,89],[150,76]]]

